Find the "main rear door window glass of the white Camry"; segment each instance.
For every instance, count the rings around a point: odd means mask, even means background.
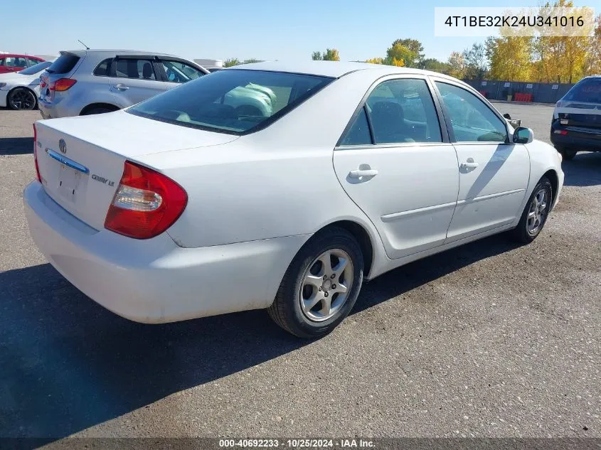
[[[442,142],[434,100],[425,80],[382,82],[366,101],[374,144]]]

